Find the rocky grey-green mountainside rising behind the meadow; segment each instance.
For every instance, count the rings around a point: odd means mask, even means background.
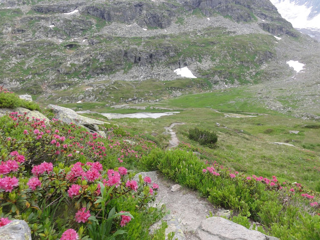
[[[268,0],[0,3],[0,84],[40,102],[109,106],[272,84],[300,58],[279,46],[314,53]],[[186,66],[196,78],[173,71]]]

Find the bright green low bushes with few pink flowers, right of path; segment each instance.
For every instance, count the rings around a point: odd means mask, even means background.
[[[183,150],[154,149],[140,164],[196,189],[212,204],[241,214],[233,218],[245,227],[250,227],[250,216],[268,235],[281,240],[320,239],[319,194],[301,184],[279,183],[275,176],[272,180],[245,176],[217,163],[208,166]],[[258,230],[263,232],[263,228]]]

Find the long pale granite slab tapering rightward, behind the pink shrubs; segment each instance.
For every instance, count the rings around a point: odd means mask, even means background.
[[[53,105],[53,104],[49,104],[47,106],[48,109],[52,109],[53,113],[56,115],[56,118],[61,120],[62,122],[65,123],[75,123],[77,125],[83,125],[83,126],[91,126],[91,130],[93,128],[94,125],[100,125],[100,124],[105,124],[107,122],[103,122],[103,121],[99,121],[96,119],[92,119],[90,117],[85,117],[85,116],[81,116],[79,114],[77,114],[74,110],[70,109],[70,108],[64,108],[64,107],[60,107],[57,105]],[[109,123],[107,123],[109,124]],[[95,129],[97,129],[97,131],[99,130],[98,127],[94,127]]]

